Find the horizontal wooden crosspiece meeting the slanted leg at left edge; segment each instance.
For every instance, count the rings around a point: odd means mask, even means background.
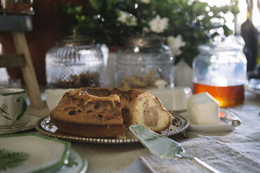
[[[24,54],[0,55],[0,67],[24,67],[25,65]]]

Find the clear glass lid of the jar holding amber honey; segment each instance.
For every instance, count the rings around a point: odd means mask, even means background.
[[[228,44],[224,41],[218,41],[218,42],[199,45],[198,50],[200,50],[200,51],[214,51],[214,52],[237,51],[237,50],[243,50],[243,46],[235,44],[235,43],[229,43]]]

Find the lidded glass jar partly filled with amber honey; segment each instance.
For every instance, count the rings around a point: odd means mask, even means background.
[[[215,42],[198,47],[193,61],[194,93],[208,92],[220,107],[243,103],[247,60],[240,45]]]

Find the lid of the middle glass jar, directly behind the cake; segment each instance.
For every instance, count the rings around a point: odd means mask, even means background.
[[[126,41],[126,45],[129,47],[157,47],[163,43],[164,38],[159,36],[132,37]]]

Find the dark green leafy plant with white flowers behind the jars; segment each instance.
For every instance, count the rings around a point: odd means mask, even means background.
[[[122,46],[136,34],[163,36],[176,57],[175,64],[183,59],[192,66],[198,45],[209,43],[219,29],[225,36],[232,33],[224,14],[238,12],[238,1],[217,7],[189,0],[89,0],[82,6],[62,3],[60,14],[65,20],[60,26],[108,47]]]

